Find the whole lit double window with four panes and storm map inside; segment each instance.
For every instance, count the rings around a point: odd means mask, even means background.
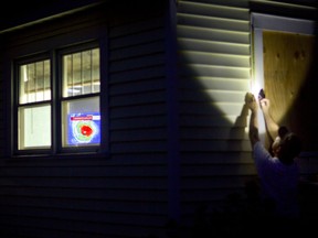
[[[99,148],[99,62],[96,45],[17,61],[17,153]]]

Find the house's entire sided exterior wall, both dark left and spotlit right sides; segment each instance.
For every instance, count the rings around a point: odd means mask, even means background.
[[[251,11],[312,18],[314,4],[109,2],[0,35],[0,235],[190,237],[198,213],[245,199],[257,182],[244,107]],[[92,39],[107,54],[107,155],[10,158],[11,60]],[[303,173],[318,171],[315,159]]]

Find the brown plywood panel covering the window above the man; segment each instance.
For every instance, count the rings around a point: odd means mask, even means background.
[[[265,31],[263,45],[264,89],[272,101],[272,116],[301,137],[304,149],[312,150],[314,134],[303,121],[311,106],[303,95],[310,78],[315,36]]]

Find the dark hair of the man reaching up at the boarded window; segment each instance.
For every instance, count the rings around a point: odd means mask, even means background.
[[[287,132],[279,142],[280,150],[278,158],[282,162],[292,163],[301,151],[301,141],[299,137],[293,132]]]

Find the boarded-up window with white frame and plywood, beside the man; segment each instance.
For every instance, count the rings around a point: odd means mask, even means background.
[[[271,106],[272,116],[279,125],[287,126],[300,136],[303,154],[317,154],[315,128],[309,98],[312,90],[315,22],[261,13],[252,14],[254,48],[254,94],[265,89],[266,97],[276,101]],[[310,95],[310,96],[309,96]],[[259,111],[258,118],[263,120]],[[265,123],[259,123],[262,140],[269,144]]]

